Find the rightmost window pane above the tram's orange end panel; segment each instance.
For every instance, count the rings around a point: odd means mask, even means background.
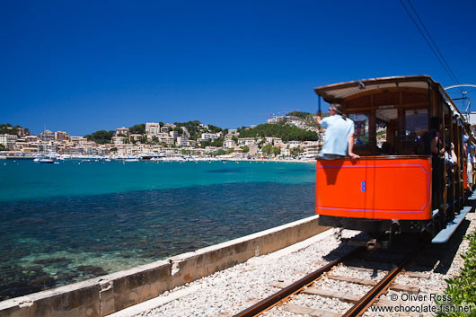
[[[405,110],[402,154],[423,154],[423,135],[428,132],[428,110]]]

